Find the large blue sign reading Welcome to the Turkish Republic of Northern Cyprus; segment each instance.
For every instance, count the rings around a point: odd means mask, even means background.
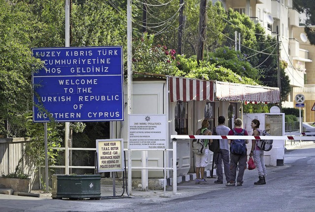
[[[45,64],[32,74],[34,122],[124,120],[121,46],[34,48],[32,53]]]

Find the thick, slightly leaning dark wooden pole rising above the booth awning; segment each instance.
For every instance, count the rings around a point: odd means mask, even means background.
[[[197,63],[200,64],[200,60],[203,60],[204,41],[206,37],[206,10],[207,0],[200,0],[199,10],[199,36],[198,36],[198,51],[197,51]]]

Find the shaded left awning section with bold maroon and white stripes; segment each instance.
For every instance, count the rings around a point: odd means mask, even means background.
[[[214,81],[169,77],[170,102],[214,101]]]

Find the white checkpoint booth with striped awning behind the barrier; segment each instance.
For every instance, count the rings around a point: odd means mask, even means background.
[[[127,105],[125,85],[125,106]],[[193,135],[201,127],[203,119],[209,120],[209,129],[218,125],[223,115],[225,125],[233,128],[234,119],[243,119],[243,102],[278,103],[279,88],[221,82],[216,80],[189,79],[165,76],[164,78],[135,78],[132,81],[132,114],[166,114],[166,148],[172,148],[171,134]],[[123,138],[124,148],[128,142],[128,114],[125,120],[113,122],[111,138]],[[206,170],[212,166],[212,152]],[[166,161],[164,161],[166,154]],[[127,157],[126,157],[127,158]],[[149,167],[172,167],[172,152],[132,151],[132,166],[139,167],[144,160]],[[165,164],[164,164],[165,163]],[[194,155],[190,139],[177,140],[177,177],[194,172]],[[132,178],[163,178],[160,170],[132,170]],[[167,178],[172,172],[167,172]]]

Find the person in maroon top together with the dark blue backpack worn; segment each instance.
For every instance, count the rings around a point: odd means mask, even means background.
[[[228,135],[248,135],[248,132],[242,128],[242,120],[237,118],[234,121],[234,128],[228,132]],[[236,167],[238,164],[237,186],[243,185],[243,176],[246,169],[248,140],[234,139],[228,140],[230,144],[230,182],[226,186],[234,186],[236,178]]]

